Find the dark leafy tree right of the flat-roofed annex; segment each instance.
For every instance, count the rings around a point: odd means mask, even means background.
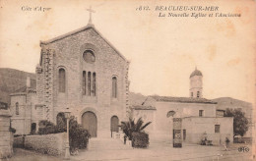
[[[243,136],[248,131],[248,120],[240,109],[227,108],[224,117],[233,117],[233,136]]]

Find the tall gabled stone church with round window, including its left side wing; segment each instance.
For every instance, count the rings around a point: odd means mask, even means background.
[[[12,126],[30,134],[40,120],[56,124],[71,111],[92,136],[118,132],[128,109],[129,62],[90,22],[86,27],[40,42],[36,86],[11,94]]]

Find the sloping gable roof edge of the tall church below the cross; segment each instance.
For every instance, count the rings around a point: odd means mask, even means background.
[[[63,38],[66,38],[68,36],[71,36],[71,35],[74,35],[74,34],[77,34],[81,31],[84,31],[84,30],[87,30],[87,29],[90,29],[90,28],[93,28],[96,33],[124,60],[126,61],[127,63],[129,63],[128,60],[126,60],[126,58],[106,39],[102,36],[102,34],[96,29],[96,27],[92,24],[88,24],[86,27],[81,27],[79,29],[76,29],[76,30],[73,30],[73,31],[70,31],[68,33],[65,33],[65,34],[62,34],[60,36],[57,36],[55,38],[52,38],[52,39],[49,39],[49,40],[46,40],[46,41],[40,41],[40,46],[43,44],[43,45],[47,45],[49,43],[52,43],[52,42],[55,42],[55,41],[58,41],[58,40],[61,40]]]

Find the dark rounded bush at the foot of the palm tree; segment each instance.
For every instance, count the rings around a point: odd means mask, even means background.
[[[133,147],[145,148],[149,146],[150,144],[149,134],[140,132],[140,133],[133,133],[132,135],[133,135],[132,137]]]

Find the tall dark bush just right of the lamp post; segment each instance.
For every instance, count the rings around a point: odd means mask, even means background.
[[[75,117],[71,117],[69,126],[69,141],[71,152],[75,151],[76,149],[87,148],[89,138],[91,137],[89,132],[78,124],[78,122],[75,120]]]

